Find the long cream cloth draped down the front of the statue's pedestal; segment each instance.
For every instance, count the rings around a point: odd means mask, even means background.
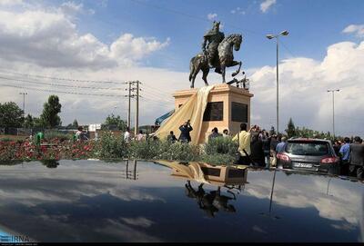
[[[190,132],[191,143],[197,144],[201,133],[202,121],[207,106],[207,98],[214,85],[205,86],[198,89],[186,103],[184,103],[175,113],[173,113],[165,123],[157,130],[155,135],[159,139],[166,139],[170,131],[178,137],[180,134],[179,126],[190,120],[193,131]]]

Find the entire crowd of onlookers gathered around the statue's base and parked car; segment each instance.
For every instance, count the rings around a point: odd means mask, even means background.
[[[179,126],[179,136],[173,131],[167,135],[167,141],[170,143],[189,143],[191,142],[190,133],[193,131],[190,121]],[[149,135],[139,131],[136,136],[132,136],[130,129],[127,128],[124,133],[124,141],[143,141],[149,139]],[[258,125],[253,125],[248,130],[247,123],[240,124],[239,133],[234,136],[224,129],[222,133],[214,127],[208,135],[207,141],[218,137],[232,137],[233,141],[238,142],[237,164],[250,164],[258,167],[271,167],[277,165],[277,153],[284,152],[288,138],[281,134],[269,133],[261,129]],[[152,137],[157,140],[157,137]],[[76,139],[82,141],[85,139],[85,133],[78,129]],[[364,165],[364,144],[360,137],[350,140],[348,137],[343,141],[337,140],[333,143],[335,153],[340,158],[340,174],[352,175],[362,178]]]

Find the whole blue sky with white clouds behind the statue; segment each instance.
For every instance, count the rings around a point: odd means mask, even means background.
[[[110,113],[126,118],[123,82],[139,80],[140,123],[152,124],[173,109],[171,94],[189,87],[189,60],[218,20],[225,34],[243,34],[235,57],[255,94],[252,123],[276,123],[276,46],[265,34],[287,29],[279,128],[292,117],[298,126],[332,131],[327,90],[340,89],[336,133],[364,136],[362,9],[360,0],[0,0],[0,103],[22,106],[26,92],[25,113],[38,116],[56,93],[64,124],[102,123]],[[211,73],[209,82],[220,77]]]

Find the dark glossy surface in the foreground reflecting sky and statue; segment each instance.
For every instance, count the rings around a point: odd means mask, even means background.
[[[198,162],[59,163],[0,165],[0,228],[36,241],[363,241],[361,182]]]

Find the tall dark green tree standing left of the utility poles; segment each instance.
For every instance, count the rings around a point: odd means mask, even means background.
[[[61,113],[62,105],[59,103],[59,98],[56,95],[50,95],[48,102],[43,105],[43,113],[40,115],[40,120],[45,127],[53,128],[61,125],[61,118],[58,113]]]

